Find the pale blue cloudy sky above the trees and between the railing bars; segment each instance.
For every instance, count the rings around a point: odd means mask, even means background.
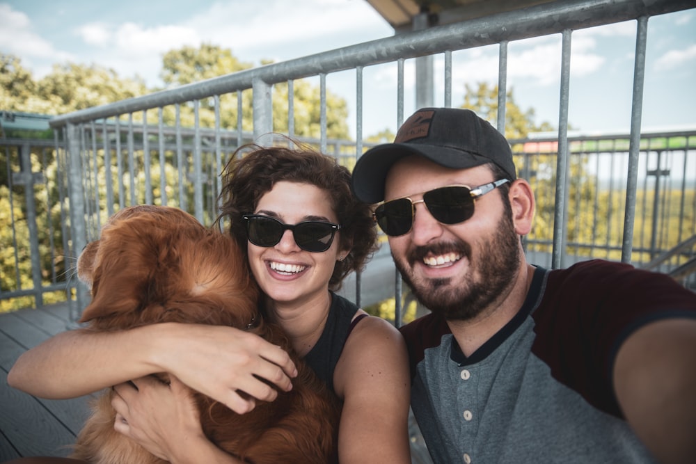
[[[569,121],[587,134],[628,131],[635,22],[576,31],[572,38]],[[40,78],[54,63],[111,67],[159,85],[161,55],[209,42],[241,61],[283,61],[393,35],[363,0],[0,0],[0,52],[22,58]],[[560,35],[511,42],[508,86],[537,122],[557,125]],[[497,82],[497,47],[453,54],[452,104],[464,83]],[[406,63],[406,115],[413,105],[412,63]],[[436,70],[441,60],[436,59]],[[441,74],[437,74],[438,76]],[[696,9],[649,19],[644,131],[696,129]],[[365,70],[364,134],[395,131],[394,65]],[[354,74],[329,75],[329,90],[345,96],[354,116]],[[436,86],[439,86],[436,80]],[[389,88],[386,92],[384,89]],[[435,104],[443,103],[436,88]],[[351,128],[354,121],[349,119]]]

